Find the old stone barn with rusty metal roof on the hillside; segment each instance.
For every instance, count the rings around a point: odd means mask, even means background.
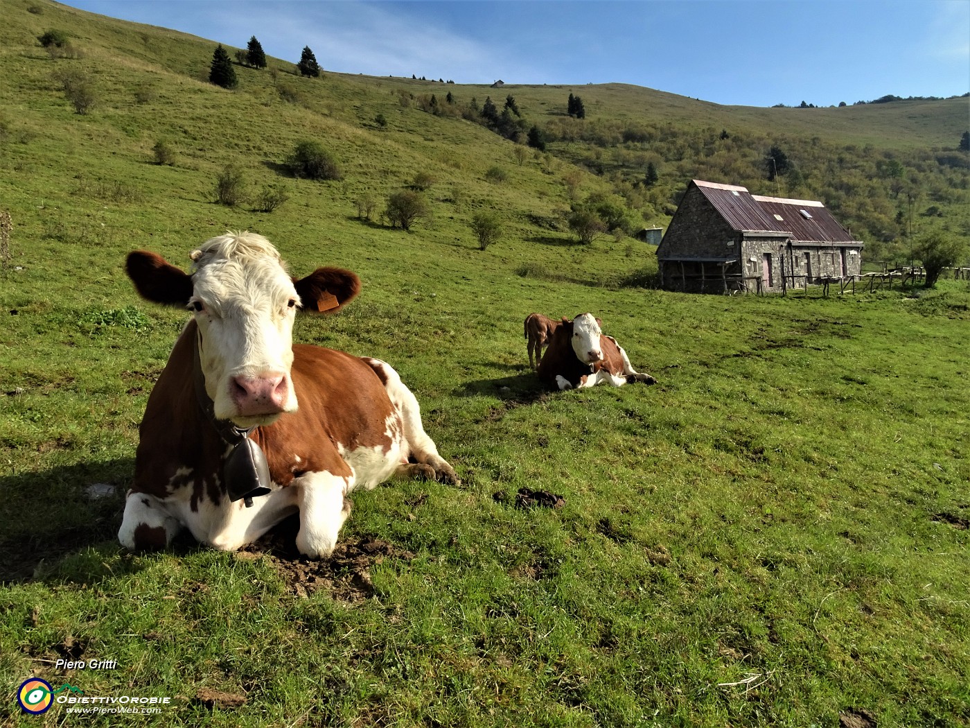
[[[821,202],[693,180],[657,248],[661,287],[781,291],[861,272],[862,243]]]

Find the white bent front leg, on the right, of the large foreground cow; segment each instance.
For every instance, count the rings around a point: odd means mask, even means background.
[[[337,535],[350,514],[350,503],[344,495],[350,489],[350,478],[330,473],[307,473],[290,484],[299,488],[300,533],[297,548],[311,559],[329,556],[337,545]]]

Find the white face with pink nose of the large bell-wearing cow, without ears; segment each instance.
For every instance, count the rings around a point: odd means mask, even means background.
[[[290,367],[300,296],[275,248],[257,235],[223,236],[192,260],[188,309],[215,416],[251,427],[295,412]]]

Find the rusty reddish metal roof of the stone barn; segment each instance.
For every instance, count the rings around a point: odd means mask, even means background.
[[[753,195],[746,187],[694,180],[701,194],[741,232],[777,232],[792,242],[857,243],[825,206],[816,200]]]

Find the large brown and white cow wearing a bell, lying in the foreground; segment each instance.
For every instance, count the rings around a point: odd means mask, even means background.
[[[168,546],[185,527],[234,550],[299,512],[297,547],[327,556],[354,488],[396,473],[459,482],[389,365],[292,343],[295,315],[338,311],[360,290],[357,276],[318,268],[291,279],[276,249],[250,233],[212,238],[191,257],[189,275],[153,252],[128,256],[142,296],[193,317],[148,397],[123,546]],[[256,466],[241,471],[242,440],[259,446],[253,459],[265,454],[264,495],[244,492]]]

